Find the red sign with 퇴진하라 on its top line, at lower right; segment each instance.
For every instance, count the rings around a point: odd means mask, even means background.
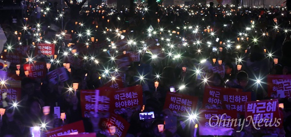
[[[244,103],[251,101],[251,92],[242,92],[240,89],[224,89],[223,93],[223,105],[228,110],[235,110],[241,115],[244,115]]]

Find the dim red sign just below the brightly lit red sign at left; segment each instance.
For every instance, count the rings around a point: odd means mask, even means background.
[[[30,78],[44,78],[47,74],[46,62],[23,64],[24,71],[28,71]]]

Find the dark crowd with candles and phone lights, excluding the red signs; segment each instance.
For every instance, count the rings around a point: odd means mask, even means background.
[[[96,132],[97,137],[112,136],[100,130],[99,117],[90,114],[90,118],[82,118],[80,94],[74,95],[68,89],[72,83],[79,83],[78,90],[94,90],[116,75],[122,77],[124,87],[142,85],[144,112],[161,112],[164,116],[174,115],[162,109],[172,87],[177,93],[197,96],[197,110],[202,108],[205,85],[251,92],[252,101],[279,99],[285,105],[283,129],[271,133],[249,127],[240,134],[234,132],[233,137],[291,136],[290,99],[270,96],[267,88],[267,75],[291,74],[291,14],[286,7],[210,2],[190,6],[156,4],[155,8],[136,4],[134,11],[129,11],[126,6],[82,7],[85,1],[65,2],[64,9],[58,9],[58,3],[31,2],[37,8],[25,13],[25,19],[1,25],[7,37],[1,54],[4,50],[16,53],[18,46],[28,45],[23,64],[50,62],[49,69],[54,70],[67,63],[64,55],[72,52],[70,45],[83,43],[88,51],[77,54],[81,63],[71,63],[69,80],[57,84],[47,77],[32,79],[20,68],[21,100],[14,105],[13,100],[2,99],[8,107],[0,120],[0,137],[31,137],[29,127],[37,124],[46,122],[49,130],[80,120],[86,132]],[[126,44],[118,43],[124,40]],[[35,56],[38,43],[55,44],[57,56]],[[159,47],[158,52],[150,50],[154,47]],[[117,57],[126,52],[136,53],[140,60],[117,64]],[[216,66],[223,66],[223,72],[213,72]],[[12,74],[16,74],[15,70],[13,64],[7,69]],[[156,81],[160,82],[157,91]],[[53,113],[56,103],[66,114],[65,122]],[[49,115],[42,113],[44,106],[50,106]],[[182,124],[188,118],[180,116],[177,127],[159,132],[157,125],[164,120],[139,120],[140,112],[128,110],[119,114],[130,123],[127,137],[196,137],[191,123]]]

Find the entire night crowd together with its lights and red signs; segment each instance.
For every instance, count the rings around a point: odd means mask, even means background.
[[[20,27],[1,25],[7,42],[0,60],[0,137],[45,137],[74,124],[96,137],[291,133],[285,7],[153,2],[157,9],[136,4],[131,12],[126,6],[65,2],[62,10],[57,2],[27,2],[30,10],[22,14],[36,15],[22,18]],[[256,103],[265,103],[272,116],[258,116]],[[206,127],[202,121],[210,112],[236,120],[250,113],[279,116],[284,125]]]

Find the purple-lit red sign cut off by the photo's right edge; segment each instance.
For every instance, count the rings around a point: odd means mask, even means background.
[[[268,75],[269,97],[291,97],[291,75]]]

